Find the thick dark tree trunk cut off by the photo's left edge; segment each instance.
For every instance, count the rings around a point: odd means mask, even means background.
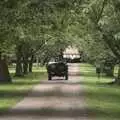
[[[9,83],[12,79],[9,74],[8,65],[5,59],[1,58],[0,53],[0,83]]]

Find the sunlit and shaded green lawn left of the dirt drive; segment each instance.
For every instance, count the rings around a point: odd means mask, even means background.
[[[9,68],[11,76],[14,75],[14,68]],[[17,102],[28,94],[28,91],[40,80],[46,79],[46,70],[44,67],[34,68],[32,74],[28,74],[23,78],[13,77],[11,84],[0,84],[0,113],[6,112]]]

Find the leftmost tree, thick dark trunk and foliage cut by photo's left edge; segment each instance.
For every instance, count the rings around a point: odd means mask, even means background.
[[[12,11],[5,3],[5,1],[0,1],[0,82],[11,82],[5,55],[13,47],[13,31],[11,24],[9,24]]]

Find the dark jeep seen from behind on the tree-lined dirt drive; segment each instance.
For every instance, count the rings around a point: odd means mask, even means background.
[[[68,80],[68,65],[65,62],[48,63],[47,72],[48,80],[52,80],[54,76],[65,77],[65,80]]]

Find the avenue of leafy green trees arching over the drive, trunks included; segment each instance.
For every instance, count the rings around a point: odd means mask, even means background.
[[[32,72],[35,58],[42,63],[62,57],[69,45],[92,64],[119,65],[119,0],[1,0],[0,81],[11,82],[7,63],[14,58],[16,76]]]

